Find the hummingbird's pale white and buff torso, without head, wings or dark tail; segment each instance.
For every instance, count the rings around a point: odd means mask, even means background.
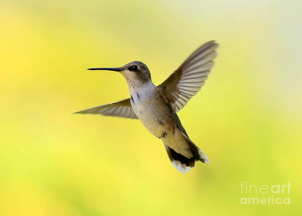
[[[160,91],[152,82],[139,89],[131,89],[133,111],[150,133],[162,139],[177,153],[191,158],[193,155],[177,127],[176,113],[169,108]]]

